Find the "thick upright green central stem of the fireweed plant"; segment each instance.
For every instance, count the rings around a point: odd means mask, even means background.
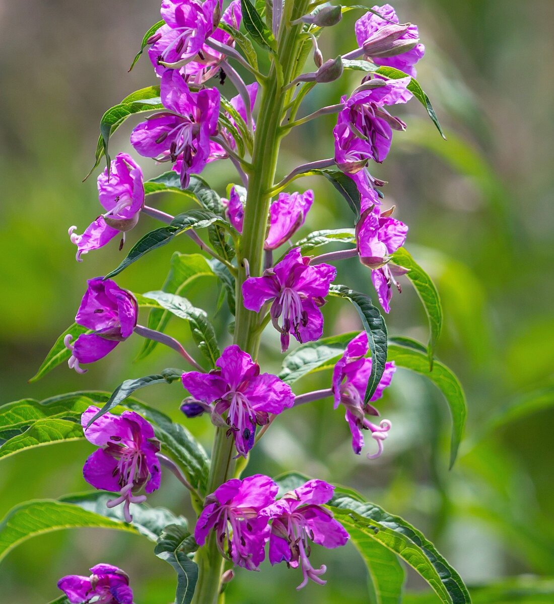
[[[237,311],[234,329],[234,343],[253,358],[256,358],[260,344],[259,316],[255,312],[246,310],[243,306],[242,284],[246,279],[246,265],[253,276],[258,276],[263,271],[263,242],[266,237],[271,202],[269,191],[274,182],[282,138],[280,123],[284,108],[291,101],[293,94],[290,89],[283,91],[283,83],[291,82],[297,76],[297,71],[301,67],[297,64],[298,54],[304,41],[300,37],[300,26],[289,24],[306,13],[308,4],[308,0],[286,0],[285,2],[277,52],[280,66],[273,62],[268,78],[263,83],[259,118],[254,136],[242,245],[241,249],[237,250],[239,275],[236,280]],[[211,454],[207,493],[214,492],[217,487],[234,475],[233,439],[228,439],[225,432],[224,428],[217,428]],[[216,604],[224,559],[217,550],[213,533],[207,544],[198,551],[196,558],[199,565],[199,577],[193,602],[194,604]]]

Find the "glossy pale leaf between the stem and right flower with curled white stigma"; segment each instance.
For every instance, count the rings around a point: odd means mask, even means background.
[[[298,346],[283,359],[280,379],[287,384],[293,384],[309,373],[334,367],[348,342],[356,335],[358,332],[343,333]]]

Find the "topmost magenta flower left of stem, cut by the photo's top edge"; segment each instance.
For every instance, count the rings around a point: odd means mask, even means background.
[[[204,56],[204,42],[217,27],[221,6],[221,0],[163,0],[160,13],[166,25],[150,37],[152,46],[148,51],[158,76],[163,76],[167,69],[160,65],[161,61],[187,62],[196,59],[199,53]],[[209,52],[213,53],[211,49]],[[211,56],[207,59],[208,64],[210,59]],[[198,60],[201,61],[202,57],[199,56]]]

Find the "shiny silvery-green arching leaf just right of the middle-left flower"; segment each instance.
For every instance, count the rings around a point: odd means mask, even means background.
[[[156,291],[147,292],[145,295],[156,300],[160,306],[169,310],[173,315],[188,321],[192,337],[200,352],[210,361],[211,367],[215,367],[221,352],[217,346],[216,333],[205,310],[196,308],[187,298],[176,294]]]

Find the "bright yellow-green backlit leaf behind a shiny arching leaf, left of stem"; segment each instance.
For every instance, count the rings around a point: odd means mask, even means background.
[[[180,254],[175,252],[171,257],[169,274],[163,285],[163,291],[169,294],[183,295],[187,289],[200,277],[215,277],[216,274],[210,263],[201,254]],[[148,316],[149,329],[164,332],[169,323],[171,313],[163,308],[153,309]],[[143,359],[152,352],[158,342],[145,339],[144,346],[138,355]]]

